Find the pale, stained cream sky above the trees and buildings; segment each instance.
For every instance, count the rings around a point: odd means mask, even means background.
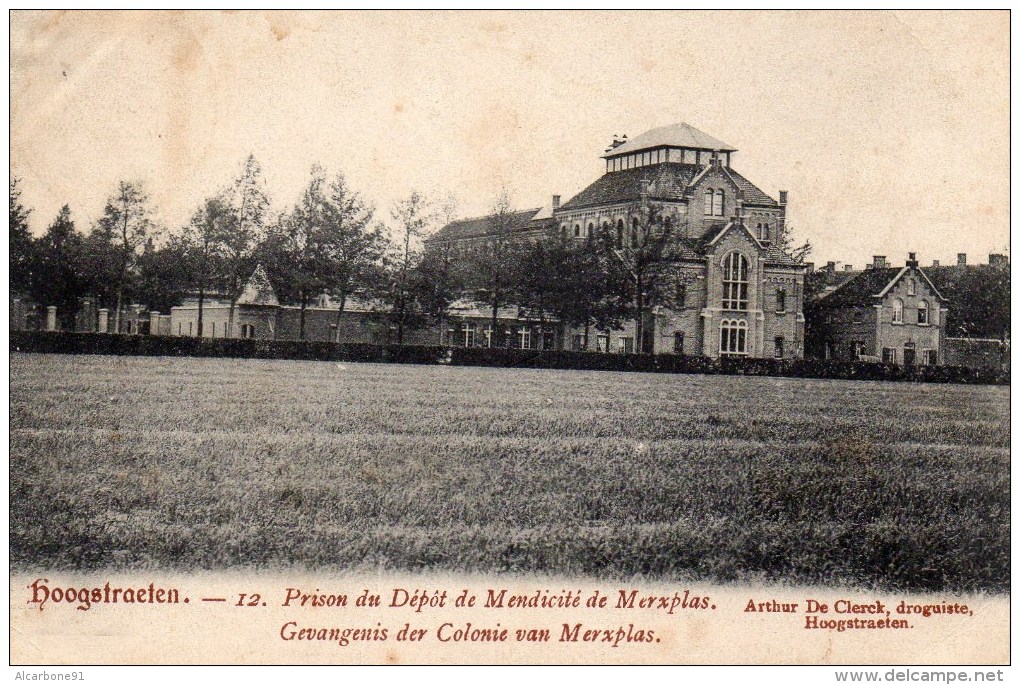
[[[42,232],[119,180],[169,229],[248,154],[273,208],[318,163],[390,218],[506,189],[566,201],[614,135],[685,121],[740,152],[810,259],[1009,251],[1009,14],[14,11],[10,170]]]

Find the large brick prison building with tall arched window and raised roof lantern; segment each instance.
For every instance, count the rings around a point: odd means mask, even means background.
[[[605,152],[606,172],[566,203],[518,212],[521,238],[561,234],[581,240],[608,232],[619,249],[643,240],[635,208],[651,208],[675,236],[682,259],[682,297],[648,313],[644,338],[633,322],[599,331],[605,352],[673,353],[707,357],[798,358],[804,355],[806,266],[780,246],[786,193],[770,197],[733,168],[735,148],[686,124],[654,128],[631,140],[614,139]],[[488,217],[455,221],[431,241],[469,256],[489,238]],[[452,342],[484,346],[468,335],[482,320],[461,322]],[[513,328],[514,322],[509,323]],[[527,322],[519,322],[526,326]],[[562,347],[578,347],[577,331],[561,331]],[[531,336],[528,336],[529,338]],[[523,339],[523,337],[522,337]],[[533,338],[531,338],[533,339]]]

